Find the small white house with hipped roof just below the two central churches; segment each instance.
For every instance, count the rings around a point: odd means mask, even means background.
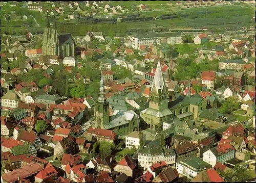
[[[143,138],[143,139],[141,139]],[[141,134],[137,131],[134,131],[128,135],[125,136],[125,147],[126,148],[139,148],[140,146],[143,146],[144,144],[140,144],[141,142],[145,141],[145,135]]]

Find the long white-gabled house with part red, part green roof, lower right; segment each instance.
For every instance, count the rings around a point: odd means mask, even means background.
[[[217,147],[211,148],[203,153],[203,160],[214,167],[217,162],[225,163],[234,158],[234,148],[229,143],[218,144]]]

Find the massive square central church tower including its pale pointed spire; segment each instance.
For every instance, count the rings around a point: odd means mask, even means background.
[[[152,87],[150,88],[150,106],[140,112],[147,127],[161,130],[164,121],[172,118],[173,113],[168,109],[168,90],[164,81],[160,61],[158,61]]]

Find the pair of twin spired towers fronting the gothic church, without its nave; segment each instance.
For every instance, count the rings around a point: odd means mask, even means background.
[[[44,38],[42,40],[42,55],[46,56],[58,56],[58,45],[59,45],[59,39],[58,39],[58,32],[57,32],[57,25],[54,15],[54,22],[53,22],[53,28],[50,29],[50,22],[49,17],[47,13],[46,17],[46,27],[44,31]]]

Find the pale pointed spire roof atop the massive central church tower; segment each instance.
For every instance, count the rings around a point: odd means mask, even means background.
[[[165,82],[164,82],[164,79],[163,79],[163,73],[162,73],[162,68],[161,68],[161,65],[160,65],[160,60],[158,60],[158,64],[157,64],[157,68],[156,68],[156,72],[155,72],[151,92],[155,91],[156,93],[158,93],[158,91],[160,89],[161,90],[160,94],[161,94],[164,87],[166,87],[166,86],[165,86]]]

